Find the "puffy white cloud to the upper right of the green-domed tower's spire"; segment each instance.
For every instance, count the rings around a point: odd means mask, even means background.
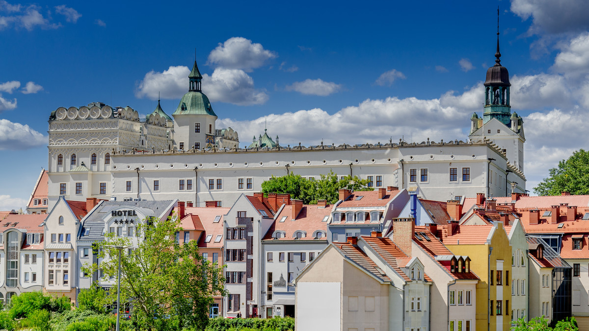
[[[243,37],[233,37],[223,44],[219,43],[219,46],[210,52],[208,63],[250,72],[277,56],[276,52],[264,49],[262,44],[252,43],[251,40]]]

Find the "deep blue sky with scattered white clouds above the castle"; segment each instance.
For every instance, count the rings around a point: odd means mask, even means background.
[[[101,101],[168,114],[196,59],[241,146],[465,139],[482,112],[500,8],[524,117],[528,189],[587,138],[585,1],[6,2],[0,0],[0,210],[47,167],[47,119]]]

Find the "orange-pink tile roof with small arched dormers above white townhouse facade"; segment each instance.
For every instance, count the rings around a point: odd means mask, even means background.
[[[272,238],[272,233],[276,230],[286,232],[284,238],[278,240],[294,240],[293,234],[296,230],[303,230],[307,232],[307,236],[297,240],[313,240],[313,232],[316,230],[327,230],[327,222],[323,222],[325,216],[329,216],[331,208],[317,208],[317,205],[303,205],[296,220],[292,220],[292,205],[286,205],[279,215],[276,216],[276,221],[270,226],[266,232],[263,240],[276,240]],[[286,216],[284,222],[280,220]]]

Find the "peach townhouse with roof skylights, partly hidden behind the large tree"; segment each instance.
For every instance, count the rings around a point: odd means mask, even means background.
[[[178,205],[181,206],[181,203],[182,202],[178,202]],[[200,239],[193,239],[198,240],[198,251],[200,252],[200,255],[203,256],[203,259],[217,263],[219,266],[223,266],[223,248],[225,243],[223,217],[229,212],[229,209],[230,208],[217,207],[217,203],[212,202],[207,203],[207,207],[186,207],[186,217],[190,215],[191,222],[196,223],[194,228],[197,228],[198,226],[198,222],[195,220],[195,218],[198,218],[198,220],[200,220],[200,225],[204,229],[204,233],[201,233]],[[183,219],[183,223],[184,222],[186,222],[186,220]],[[190,226],[190,222],[188,222],[188,226]],[[192,233],[190,236],[193,238]],[[213,306],[211,306],[209,310],[209,317],[211,318],[222,315],[222,307],[225,300],[221,295],[215,295],[213,296],[213,299]]]

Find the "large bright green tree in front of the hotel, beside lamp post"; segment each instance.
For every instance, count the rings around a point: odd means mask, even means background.
[[[132,322],[137,329],[204,329],[213,295],[225,294],[222,267],[198,255],[196,240],[180,245],[176,236],[181,230],[175,216],[163,222],[146,219],[136,225],[135,238],[107,233],[96,244],[98,258],[103,259],[102,279],[115,279],[112,289],[117,288],[118,270],[118,250],[112,246],[135,247],[121,254],[121,302],[133,302]],[[116,300],[117,291],[111,290],[104,303]]]

